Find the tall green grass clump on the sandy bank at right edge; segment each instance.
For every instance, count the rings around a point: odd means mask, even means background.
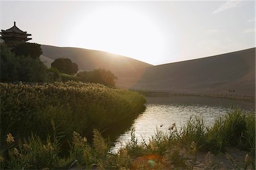
[[[255,153],[255,115],[247,115],[240,109],[229,110],[208,128],[205,142],[210,151],[224,151],[226,146],[236,146]]]

